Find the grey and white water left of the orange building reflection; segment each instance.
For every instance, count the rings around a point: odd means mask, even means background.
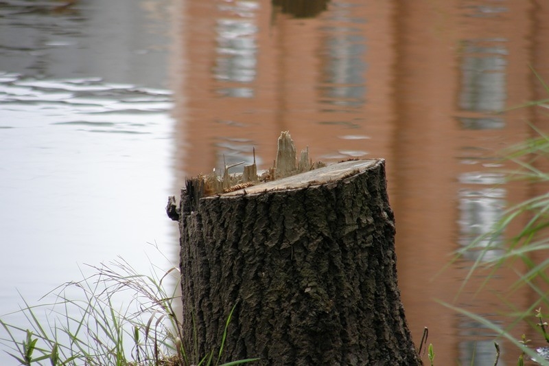
[[[163,210],[174,120],[156,10],[167,2],[156,4],[0,5],[0,314],[91,274],[86,264],[177,263]]]

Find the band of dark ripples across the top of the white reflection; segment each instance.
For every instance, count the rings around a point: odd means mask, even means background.
[[[6,72],[0,72],[0,101],[3,128],[25,126],[25,115],[40,113],[40,125],[102,133],[150,133],[154,116],[172,108],[172,94],[161,89],[101,78],[34,80]]]

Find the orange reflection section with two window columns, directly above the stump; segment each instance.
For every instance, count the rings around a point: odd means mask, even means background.
[[[185,79],[174,86],[185,95],[176,111],[186,116],[179,170],[220,167],[223,155],[227,163],[249,160],[252,146],[267,168],[281,130],[320,159],[388,157],[389,8],[334,5],[316,18],[292,19],[271,14],[265,1],[238,6],[187,2],[177,45],[184,69],[176,65]],[[345,18],[351,10],[352,22]],[[387,39],[368,43],[368,34]],[[375,94],[366,93],[366,80]]]

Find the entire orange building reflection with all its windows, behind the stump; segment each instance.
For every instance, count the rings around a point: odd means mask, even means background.
[[[178,182],[219,168],[223,156],[250,161],[253,146],[266,168],[281,130],[313,157],[386,158],[414,339],[428,326],[439,360],[469,364],[471,343],[457,330],[474,326],[432,299],[453,301],[456,278],[471,263],[431,279],[478,233],[471,228],[498,218],[502,203],[526,198],[521,185],[494,196],[493,184],[478,183],[490,179],[498,150],[531,133],[524,121],[535,117],[527,109],[490,112],[543,98],[528,63],[549,80],[541,20],[549,10],[540,2],[533,11],[519,0],[351,0],[292,19],[272,14],[266,1],[189,0],[174,60]],[[468,294],[460,301],[472,301]],[[496,303],[482,293],[471,304]]]

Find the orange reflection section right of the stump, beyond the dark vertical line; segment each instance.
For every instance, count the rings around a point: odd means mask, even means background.
[[[473,341],[479,341],[476,363],[493,363],[493,340],[482,338],[486,330],[432,301],[454,301],[459,284],[446,279],[465,277],[474,257],[431,279],[449,253],[500,217],[502,204],[526,198],[523,187],[495,185],[498,176],[487,167],[496,162],[499,150],[529,133],[527,109],[503,115],[491,111],[532,98],[530,9],[522,1],[430,5],[401,3],[395,16],[398,132],[391,201],[397,214],[399,274],[406,274],[399,279],[410,328],[429,326],[438,354],[469,364]],[[421,260],[414,254],[418,252]],[[503,293],[511,278],[509,273],[491,285]],[[484,291],[473,299],[471,291],[479,282],[482,277],[472,280],[456,304],[495,311],[502,304],[496,294]],[[431,296],[417,296],[425,286]],[[520,304],[524,293],[516,299],[519,308],[526,306]]]

